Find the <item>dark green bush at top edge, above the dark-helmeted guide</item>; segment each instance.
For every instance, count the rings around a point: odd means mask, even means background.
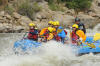
[[[66,0],[66,6],[75,10],[87,10],[91,6],[91,0]]]

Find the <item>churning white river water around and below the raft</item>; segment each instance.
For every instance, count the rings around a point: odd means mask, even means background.
[[[12,48],[22,34],[0,34],[0,66],[100,66],[100,55],[76,56],[71,47],[50,41],[30,55],[15,55]]]

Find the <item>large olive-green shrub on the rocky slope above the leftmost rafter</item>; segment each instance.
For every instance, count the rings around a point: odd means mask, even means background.
[[[30,0],[26,0],[18,6],[18,13],[28,16],[32,20],[34,20],[34,14],[40,10],[41,7],[36,2],[30,3]]]

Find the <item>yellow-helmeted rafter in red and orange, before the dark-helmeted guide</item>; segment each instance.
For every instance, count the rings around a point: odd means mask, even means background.
[[[71,32],[71,40],[72,44],[78,45],[79,41],[85,42],[86,35],[85,33],[79,29],[77,24],[72,25],[72,32]]]

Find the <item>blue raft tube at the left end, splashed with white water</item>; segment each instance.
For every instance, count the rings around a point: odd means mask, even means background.
[[[33,40],[29,40],[29,39],[23,39],[23,40],[19,40],[16,41],[14,43],[14,52],[19,52],[19,50],[21,52],[26,52],[26,51],[32,51],[33,48],[37,48],[41,46],[41,43],[33,41]]]

